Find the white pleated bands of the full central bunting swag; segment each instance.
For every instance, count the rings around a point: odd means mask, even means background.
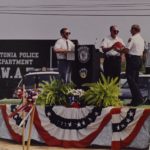
[[[68,119],[70,117],[73,117],[72,119],[79,119],[79,118],[85,117],[85,114],[87,115],[89,112],[91,112],[92,108],[93,107],[86,107],[86,108],[79,108],[79,109],[73,108],[73,109],[68,110],[68,108],[66,109],[65,107],[57,106],[57,107],[54,107],[53,110],[55,110],[55,113],[56,113],[56,110],[58,110],[57,114],[60,114],[61,117],[68,118]],[[69,130],[69,129],[58,128],[54,124],[51,124],[47,117],[43,117],[45,116],[45,112],[42,108],[37,107],[37,109],[38,109],[39,117],[41,120],[41,125],[51,136],[56,137],[59,140],[63,139],[66,141],[70,141],[70,140],[79,141],[79,140],[84,139],[86,136],[88,136],[95,130],[97,130],[103,118],[108,114],[108,112],[112,108],[103,109],[101,115],[97,117],[95,122],[89,124],[87,128],[80,129],[80,130],[76,130],[76,129]],[[60,112],[63,112],[63,113],[61,114]],[[47,123],[50,123],[50,124],[47,124]]]

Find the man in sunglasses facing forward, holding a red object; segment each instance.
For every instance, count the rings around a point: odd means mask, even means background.
[[[101,48],[104,52],[104,75],[105,77],[120,79],[121,73],[121,54],[115,49],[124,46],[123,40],[118,36],[119,30],[116,25],[110,26],[110,35],[101,42]],[[119,44],[119,45],[118,45]]]

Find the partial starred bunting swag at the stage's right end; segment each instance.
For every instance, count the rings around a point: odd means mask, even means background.
[[[113,114],[112,150],[127,147],[137,136],[148,116],[150,110],[140,108],[122,108],[119,114]]]

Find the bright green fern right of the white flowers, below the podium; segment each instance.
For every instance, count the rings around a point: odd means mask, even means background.
[[[122,105],[118,98],[120,88],[117,80],[117,78],[111,80],[109,78],[106,79],[101,74],[101,79],[98,82],[84,84],[84,86],[89,87],[84,94],[84,100],[87,105],[103,105],[104,107]]]

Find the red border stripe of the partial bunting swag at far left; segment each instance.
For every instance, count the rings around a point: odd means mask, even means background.
[[[21,143],[22,136],[20,136],[19,134],[15,133],[14,130],[12,129],[11,125],[9,124],[9,117],[8,117],[8,115],[6,113],[6,105],[2,105],[1,109],[2,109],[2,115],[3,115],[4,121],[6,123],[7,129],[9,131],[12,139],[15,140],[18,143]]]

